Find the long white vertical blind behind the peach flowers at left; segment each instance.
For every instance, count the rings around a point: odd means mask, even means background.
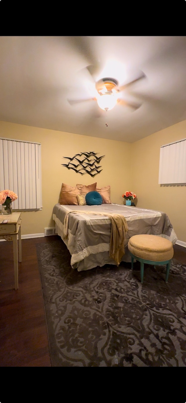
[[[18,198],[14,210],[42,208],[41,144],[0,137],[0,191]]]

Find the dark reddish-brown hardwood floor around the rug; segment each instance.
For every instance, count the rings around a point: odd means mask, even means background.
[[[22,239],[19,289],[14,289],[13,242],[0,242],[0,366],[50,367],[36,243],[56,235]],[[174,258],[186,265],[186,248],[174,245]]]

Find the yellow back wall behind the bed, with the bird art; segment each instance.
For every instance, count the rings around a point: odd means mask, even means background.
[[[8,122],[0,122],[0,137],[41,143],[43,209],[22,212],[22,235],[44,233],[44,228],[55,226],[52,209],[58,203],[62,182],[71,186],[77,183],[90,185],[94,182],[99,187],[111,185],[111,201],[123,204],[122,194],[131,185],[131,143]],[[100,162],[102,172],[94,178],[61,165],[68,162],[63,157],[73,157],[78,152],[86,151],[97,152],[98,156],[105,155]]]

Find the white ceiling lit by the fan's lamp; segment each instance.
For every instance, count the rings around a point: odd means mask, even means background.
[[[141,72],[119,93],[138,109],[91,99],[98,79]],[[0,37],[0,120],[132,143],[185,119],[186,36]]]

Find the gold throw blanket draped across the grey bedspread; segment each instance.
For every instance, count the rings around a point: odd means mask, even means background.
[[[69,233],[69,214],[93,214],[96,216],[107,216],[111,220],[111,238],[109,247],[109,256],[115,260],[117,266],[120,264],[123,255],[125,254],[125,233],[128,231],[128,225],[125,217],[121,214],[115,213],[102,213],[102,212],[92,212],[92,211],[78,211],[72,210],[65,213],[64,220],[64,237],[68,238]]]

